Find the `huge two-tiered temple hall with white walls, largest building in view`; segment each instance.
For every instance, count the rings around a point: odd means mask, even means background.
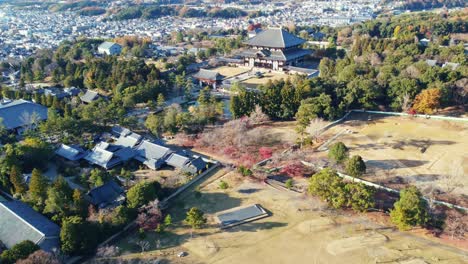
[[[312,53],[300,48],[305,42],[282,28],[269,28],[244,42],[248,47],[239,55],[243,66],[283,71],[286,66],[300,66]]]

